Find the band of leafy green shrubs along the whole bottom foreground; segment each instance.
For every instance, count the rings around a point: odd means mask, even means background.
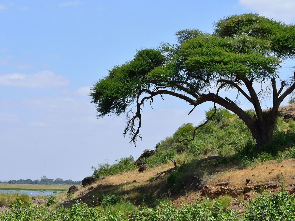
[[[108,197],[106,197],[108,198]],[[245,213],[227,209],[231,202],[230,197],[221,196],[214,200],[205,200],[203,203],[195,202],[174,207],[169,201],[163,200],[155,208],[143,206],[141,209],[115,202],[116,197],[109,197],[114,206],[89,207],[80,204],[78,200],[68,209],[64,207],[33,206],[24,203],[19,197],[11,203],[11,209],[0,214],[1,221],[27,221],[27,220],[211,220],[211,221],[260,221],[260,220],[295,220],[295,196],[285,190],[276,194],[263,192],[259,197],[246,204]]]

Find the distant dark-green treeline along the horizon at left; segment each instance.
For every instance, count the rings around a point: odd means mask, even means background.
[[[18,180],[11,180],[9,179],[8,181],[4,181],[0,183],[8,183],[8,184],[81,184],[82,181],[73,181],[71,179],[68,180],[63,180],[62,178],[56,178],[56,179],[48,179],[46,176],[42,176],[40,180],[31,180],[31,179],[18,179]]]

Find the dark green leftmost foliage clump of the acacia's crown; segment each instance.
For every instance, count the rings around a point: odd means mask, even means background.
[[[164,61],[161,52],[154,49],[137,51],[133,60],[116,65],[107,77],[100,79],[91,89],[91,102],[97,105],[98,116],[120,115],[146,87],[147,74]]]

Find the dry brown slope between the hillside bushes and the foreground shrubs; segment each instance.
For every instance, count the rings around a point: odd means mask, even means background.
[[[280,108],[282,116],[287,114],[294,116],[294,110],[295,108],[292,105]],[[230,122],[236,119],[233,115],[229,115],[228,118],[230,118]],[[289,118],[291,117],[289,116]],[[281,120],[283,121],[283,118]],[[290,122],[288,124],[289,126],[292,124]],[[280,127],[282,127],[281,130],[285,131],[287,126],[284,124]],[[177,136],[179,135],[177,131],[175,134]],[[161,145],[167,146],[167,143],[171,142],[171,140],[173,140],[173,137],[167,138]],[[159,146],[160,144],[158,144],[158,150],[160,149]],[[178,146],[178,148],[180,147]],[[280,148],[280,150],[282,149]],[[212,153],[214,151],[207,152],[208,156]],[[152,168],[148,167],[142,173],[135,169],[133,171],[101,177],[91,186],[85,188],[79,186],[78,192],[72,195],[72,199],[65,200],[61,204],[69,207],[74,203],[75,199],[78,199],[80,202],[96,205],[101,203],[105,195],[116,194],[132,202],[135,206],[142,205],[144,201],[146,205],[151,207],[156,206],[159,199],[168,197],[171,199],[172,204],[180,208],[181,205],[194,203],[196,200],[202,202],[207,198],[215,199],[226,196],[230,202],[228,204],[229,208],[243,212],[245,202],[258,196],[262,190],[267,189],[272,192],[279,192],[284,188],[286,191],[294,194],[295,159],[286,159],[286,157],[283,157],[284,154],[281,154],[282,156],[280,155],[279,157],[278,153],[283,152],[278,151],[273,156],[263,152],[260,156],[253,158],[250,163],[245,161],[244,158],[242,159],[239,156],[232,155],[230,159],[233,162],[211,160],[201,164],[194,164],[193,161],[186,162],[183,160],[183,158],[186,158],[186,155],[183,155],[183,153],[176,154],[174,157],[178,161],[178,166],[183,164],[189,168],[186,170],[184,167],[184,170],[189,172],[187,174],[181,174],[180,176],[183,175],[183,177],[178,180],[177,178],[173,180],[173,176],[172,178],[168,178],[169,174],[165,174],[160,179],[151,182],[157,172],[173,167],[173,163],[169,161],[167,164]],[[247,160],[250,161],[250,159]],[[178,171],[183,170],[183,166],[180,168],[182,169]],[[167,178],[170,180],[167,180]],[[250,180],[246,182],[246,179]],[[171,182],[173,181],[175,183],[171,186]],[[61,200],[66,196],[60,195],[59,197]]]

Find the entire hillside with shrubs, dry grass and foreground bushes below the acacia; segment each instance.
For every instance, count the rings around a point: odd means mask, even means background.
[[[212,111],[206,112],[207,119]],[[253,114],[253,110],[247,112]],[[17,199],[7,211],[10,215],[3,217],[9,220],[19,208],[32,214],[38,210],[44,220],[82,214],[91,219],[95,214],[99,220],[102,216],[104,220],[163,220],[167,214],[171,217],[165,220],[177,220],[181,214],[197,215],[200,220],[259,220],[249,217],[295,214],[295,108],[284,106],[280,112],[274,139],[261,152],[253,151],[255,140],[245,124],[217,108],[215,116],[196,130],[193,141],[185,139],[192,138],[195,126],[185,123],[160,141],[155,151],[145,150],[142,156],[149,157],[136,161],[146,168],[143,172],[132,156],[113,165],[98,164],[92,168],[97,180],[91,185],[80,185],[71,194],[34,198],[33,206]],[[153,181],[155,174],[174,167],[168,156],[176,161],[177,170]],[[199,161],[208,156],[219,157]]]

